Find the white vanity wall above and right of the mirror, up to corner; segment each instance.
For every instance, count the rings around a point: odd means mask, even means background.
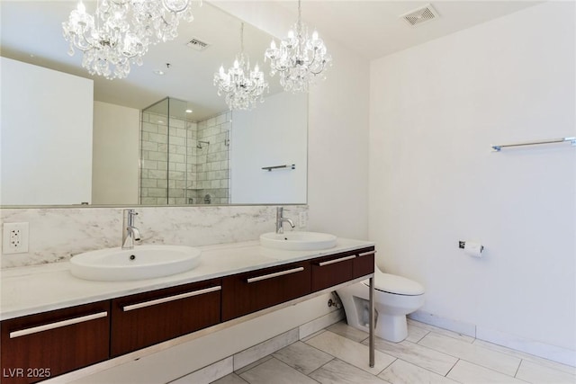
[[[295,13],[286,14],[275,2],[213,4],[280,38],[285,38],[296,21]],[[319,32],[334,65],[328,69],[328,78],[311,87],[309,95],[308,228],[365,239],[370,67],[367,59]],[[270,81],[278,81],[278,77]]]

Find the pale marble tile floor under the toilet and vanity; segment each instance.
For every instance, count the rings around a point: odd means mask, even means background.
[[[374,368],[367,345],[368,334],[341,321],[213,383],[576,383],[574,367],[414,320],[401,343],[376,338]]]

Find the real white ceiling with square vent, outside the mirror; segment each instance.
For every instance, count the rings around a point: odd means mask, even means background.
[[[330,39],[367,58],[393,52],[517,12],[536,1],[317,1],[303,0],[302,19]],[[297,17],[297,1],[278,4]],[[438,18],[411,26],[400,16],[432,4]]]

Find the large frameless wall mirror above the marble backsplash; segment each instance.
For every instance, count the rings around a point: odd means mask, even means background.
[[[61,24],[75,7],[0,2],[2,206],[306,203],[308,99],[268,76],[270,35],[244,25],[245,53],[270,92],[230,112],[212,82],[240,51],[238,18],[193,4],[175,40],[108,80],[81,67],[82,52],[67,53]],[[32,81],[40,67],[63,77]],[[85,79],[94,83],[84,92]]]

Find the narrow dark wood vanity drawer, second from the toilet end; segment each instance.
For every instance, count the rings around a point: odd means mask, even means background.
[[[312,260],[312,291],[324,290],[353,279],[355,252]]]

